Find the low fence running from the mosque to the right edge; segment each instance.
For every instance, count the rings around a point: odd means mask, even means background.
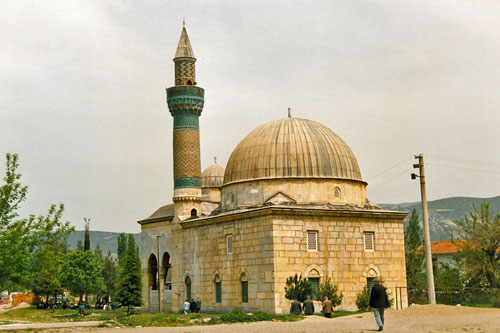
[[[408,304],[428,304],[427,287],[396,287],[396,308],[402,309],[403,290],[407,291]],[[500,308],[500,289],[435,287],[436,303]]]

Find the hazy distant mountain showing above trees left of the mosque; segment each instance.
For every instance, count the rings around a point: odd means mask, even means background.
[[[102,253],[106,255],[108,251],[117,254],[118,247],[118,235],[119,232],[108,232],[108,231],[89,231],[90,236],[90,248],[95,249],[97,244],[102,250]],[[83,238],[85,236],[84,230],[75,230],[68,237],[68,245],[71,250],[76,249],[76,243],[81,240],[83,243]],[[135,243],[140,245],[141,234],[134,234]],[[140,246],[139,246],[140,248]]]

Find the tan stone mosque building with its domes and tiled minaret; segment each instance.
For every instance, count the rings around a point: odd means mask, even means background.
[[[338,285],[343,309],[375,277],[395,294],[406,286],[403,219],[366,198],[349,146],[320,123],[294,118],[263,124],[232,152],[226,168],[201,172],[204,90],[183,27],[167,88],[173,117],[173,203],[141,225],[143,308],[288,313],[285,281],[301,274],[317,288]],[[208,115],[209,116],[209,115]],[[398,302],[407,305],[403,292]]]

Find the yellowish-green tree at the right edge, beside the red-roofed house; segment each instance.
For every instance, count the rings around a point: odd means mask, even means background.
[[[482,203],[458,221],[461,241],[461,268],[469,280],[482,287],[500,287],[500,213],[490,214],[489,203]]]

